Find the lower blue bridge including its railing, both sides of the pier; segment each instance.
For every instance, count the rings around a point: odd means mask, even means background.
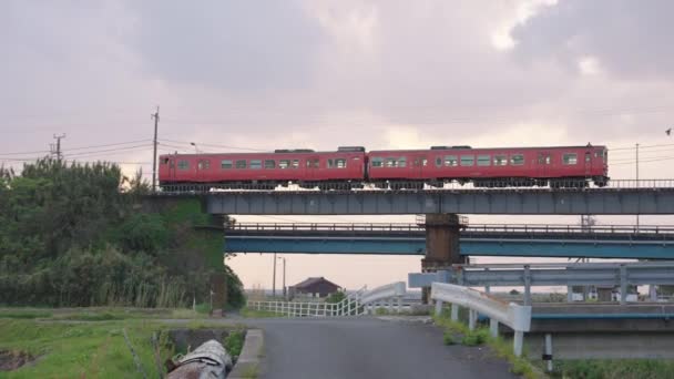
[[[417,224],[239,223],[225,229],[226,253],[426,255]],[[673,259],[674,226],[468,225],[460,254]]]

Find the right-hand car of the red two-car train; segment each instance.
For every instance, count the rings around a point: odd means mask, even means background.
[[[457,181],[478,187],[583,187],[590,181],[604,186],[605,146],[497,147],[433,146],[430,150],[371,151],[369,182],[381,188],[441,187]]]

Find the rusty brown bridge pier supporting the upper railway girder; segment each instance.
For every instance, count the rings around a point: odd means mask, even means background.
[[[423,222],[426,227],[426,257],[421,259],[421,272],[433,273],[447,269],[451,265],[466,263],[466,257],[459,250],[461,218],[457,214],[427,214]],[[422,301],[428,304],[430,287],[423,287]]]

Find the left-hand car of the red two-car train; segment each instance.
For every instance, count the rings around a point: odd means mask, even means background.
[[[270,190],[296,183],[305,188],[361,187],[365,147],[335,152],[276,150],[269,153],[170,154],[160,156],[163,187],[176,184],[214,184],[219,188]]]

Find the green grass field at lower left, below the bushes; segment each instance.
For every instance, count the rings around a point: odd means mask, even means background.
[[[159,318],[190,320],[168,325]],[[192,310],[171,309],[3,308],[0,309],[0,363],[2,359],[27,354],[34,360],[14,371],[0,371],[0,378],[142,378],[124,330],[142,370],[147,378],[157,378],[163,373],[164,361],[178,352],[170,340],[170,329],[241,330],[241,327],[215,325],[203,318]],[[156,348],[153,337],[157,340]],[[224,342],[241,349],[239,337]]]

